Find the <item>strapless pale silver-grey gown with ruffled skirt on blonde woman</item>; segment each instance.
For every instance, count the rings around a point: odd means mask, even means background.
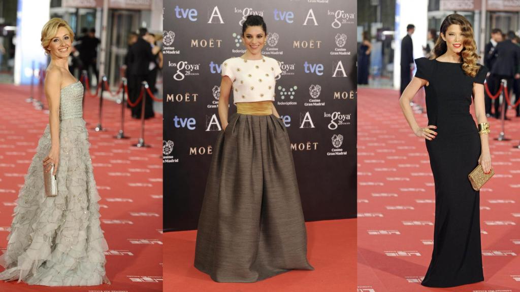
[[[80,82],[61,89],[58,195],[45,196],[42,162],[51,146],[47,125],[18,195],[7,251],[0,257],[6,268],[0,280],[45,286],[109,283],[82,98]]]

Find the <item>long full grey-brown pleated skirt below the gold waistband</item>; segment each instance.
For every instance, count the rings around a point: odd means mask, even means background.
[[[287,129],[275,115],[233,114],[218,135],[195,267],[217,282],[314,270]]]

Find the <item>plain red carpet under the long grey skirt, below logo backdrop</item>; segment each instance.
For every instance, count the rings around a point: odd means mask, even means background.
[[[356,219],[308,222],[314,271],[290,271],[256,283],[216,283],[193,267],[196,231],[164,234],[165,292],[356,291]]]

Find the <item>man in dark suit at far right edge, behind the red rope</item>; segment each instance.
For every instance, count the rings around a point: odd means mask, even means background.
[[[520,63],[520,47],[515,45],[512,42],[512,39],[516,37],[513,31],[508,32],[508,39],[505,41],[498,43],[495,48],[495,53],[493,54],[493,58],[491,59],[493,62],[493,67],[491,68],[491,78],[493,79],[494,90],[491,91],[497,92],[500,86],[500,80],[506,79],[508,82],[508,92],[509,96],[511,96],[511,90],[513,89],[513,78],[520,77],[520,72],[518,72],[518,64]],[[503,100],[502,102],[505,102]],[[500,118],[500,106],[498,102],[495,102],[495,117]],[[508,106],[505,105],[504,116],[507,112]],[[506,118],[508,120],[508,118]]]

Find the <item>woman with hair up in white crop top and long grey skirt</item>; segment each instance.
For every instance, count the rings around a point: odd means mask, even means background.
[[[222,64],[215,143],[199,218],[195,267],[217,282],[256,282],[313,270],[287,129],[272,101],[275,59],[262,56],[266,24],[249,16],[246,52]],[[228,118],[229,95],[237,113]]]

